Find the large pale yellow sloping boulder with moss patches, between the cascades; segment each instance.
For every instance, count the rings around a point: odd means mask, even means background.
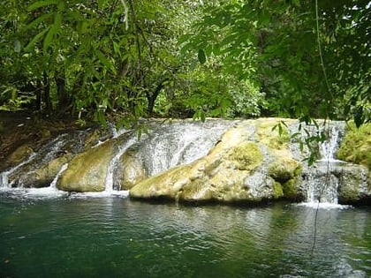
[[[280,149],[282,144],[267,146],[255,138],[256,129],[262,134],[266,128],[259,125],[262,123],[246,121],[231,128],[208,155],[141,181],[130,196],[250,203],[283,197],[302,199],[298,190],[300,163]],[[273,137],[265,139],[271,142]]]

